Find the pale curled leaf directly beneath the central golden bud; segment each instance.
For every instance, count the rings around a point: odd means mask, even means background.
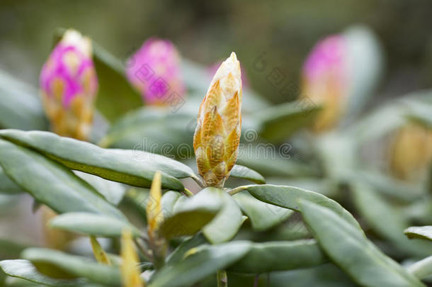
[[[203,229],[205,237],[213,244],[232,240],[244,221],[241,218],[241,210],[237,206],[237,203],[232,196],[229,196],[228,193],[219,188],[208,187],[199,193],[203,193],[205,196],[220,198],[222,202],[220,212]]]

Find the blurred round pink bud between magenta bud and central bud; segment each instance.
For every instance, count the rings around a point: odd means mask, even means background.
[[[167,105],[185,94],[180,56],[169,40],[151,38],[127,60],[126,74],[145,103]]]

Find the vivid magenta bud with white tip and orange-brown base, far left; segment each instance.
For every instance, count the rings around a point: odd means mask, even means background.
[[[52,130],[87,140],[98,90],[89,38],[76,30],[64,33],[42,67],[40,89]]]

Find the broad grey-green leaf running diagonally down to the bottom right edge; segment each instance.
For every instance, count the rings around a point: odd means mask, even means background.
[[[300,204],[322,249],[359,285],[424,286],[333,210],[309,201]]]

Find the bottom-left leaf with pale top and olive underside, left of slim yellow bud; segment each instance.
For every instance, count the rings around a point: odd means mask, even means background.
[[[88,278],[96,283],[120,286],[119,269],[85,257],[44,248],[25,249],[22,257],[31,261],[40,273],[52,278]]]

